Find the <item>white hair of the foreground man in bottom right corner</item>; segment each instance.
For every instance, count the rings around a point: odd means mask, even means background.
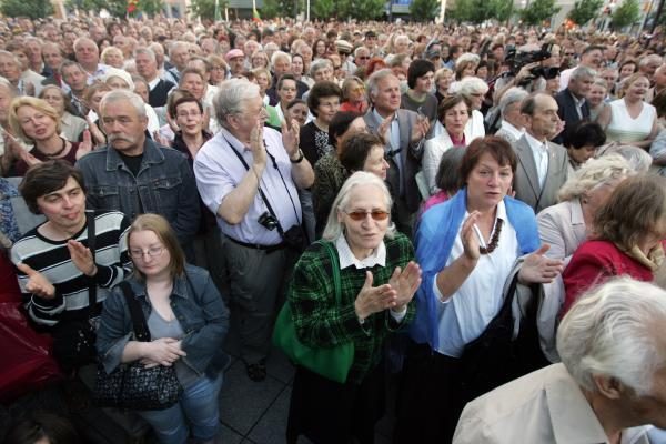
[[[618,278],[585,293],[564,316],[557,352],[573,379],[596,391],[594,376],[615,377],[639,396],[666,364],[660,337],[666,324],[666,291]]]

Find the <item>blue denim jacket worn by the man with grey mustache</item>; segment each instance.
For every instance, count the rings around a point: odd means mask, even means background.
[[[182,245],[196,233],[199,194],[194,173],[181,152],[147,138],[137,176],[110,147],[88,153],[77,167],[85,178],[88,208],[122,211],[130,220],[141,213],[161,214]]]

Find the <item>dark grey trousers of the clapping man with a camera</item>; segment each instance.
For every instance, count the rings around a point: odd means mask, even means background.
[[[240,330],[241,359],[249,364],[271,350],[275,316],[284,303],[296,255],[289,249],[255,250],[224,240],[230,310]]]

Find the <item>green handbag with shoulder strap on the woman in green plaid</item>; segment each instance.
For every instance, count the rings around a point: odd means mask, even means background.
[[[335,303],[340,304],[342,284],[340,279],[340,265],[337,256],[333,252],[331,243],[317,241],[324,246],[331,259],[333,269],[333,285],[335,287]],[[302,365],[312,372],[322,375],[329,380],[344,384],[354,362],[354,343],[332,347],[311,347],[299,340],[294,319],[289,301],[284,303],[273,331],[273,343],[278,345],[284,354],[295,364]]]

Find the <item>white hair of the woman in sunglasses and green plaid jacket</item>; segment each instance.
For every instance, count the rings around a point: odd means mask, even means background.
[[[335,240],[342,235],[344,226],[337,219],[337,212],[344,211],[349,208],[352,190],[361,185],[372,185],[379,188],[384,194],[386,211],[391,212],[393,200],[391,199],[391,193],[389,192],[384,181],[381,180],[376,174],[365,171],[357,171],[350,175],[350,178],[342,184],[340,192],[335,196],[335,200],[331,205],[331,212],[329,213],[329,220],[326,221],[326,228],[324,229],[322,239],[335,242]],[[393,222],[391,222],[389,224],[389,229],[386,230],[386,238],[393,239],[394,235],[395,225]]]

